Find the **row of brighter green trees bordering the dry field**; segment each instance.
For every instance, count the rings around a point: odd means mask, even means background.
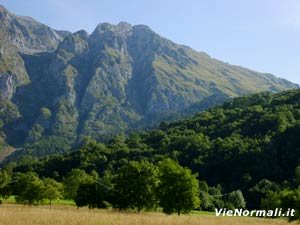
[[[131,161],[116,174],[99,177],[81,169],[72,169],[61,182],[40,178],[34,172],[10,174],[1,171],[0,197],[15,196],[20,204],[52,204],[58,199],[72,199],[78,207],[158,210],[166,214],[209,210],[224,205],[220,187],[199,182],[197,174],[171,159],[154,165],[148,161]],[[210,198],[210,200],[208,199]],[[203,200],[202,200],[203,199]],[[229,208],[245,208],[240,190],[230,193]]]

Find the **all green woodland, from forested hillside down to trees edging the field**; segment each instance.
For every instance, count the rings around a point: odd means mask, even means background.
[[[26,204],[66,198],[77,206],[178,214],[294,207],[299,218],[299,136],[300,90],[259,93],[107,143],[86,137],[82,147],[64,155],[8,160],[0,195]],[[30,200],[22,193],[26,188],[19,188],[26,185],[53,192]],[[186,202],[179,193],[187,195]]]

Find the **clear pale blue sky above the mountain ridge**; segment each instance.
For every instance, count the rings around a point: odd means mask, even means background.
[[[55,29],[146,24],[222,61],[300,84],[300,0],[0,0]]]

